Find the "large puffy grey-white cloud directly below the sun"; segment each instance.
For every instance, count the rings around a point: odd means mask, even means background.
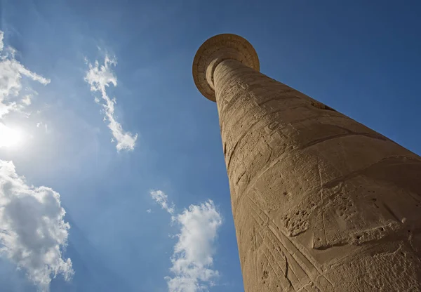
[[[49,187],[27,185],[11,161],[0,160],[0,254],[25,270],[29,279],[48,291],[51,279],[74,273],[62,258],[69,224],[60,194]]]

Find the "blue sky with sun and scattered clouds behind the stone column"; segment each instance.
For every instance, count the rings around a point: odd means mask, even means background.
[[[0,0],[0,126],[21,136],[0,147],[2,291],[243,291],[197,48],[239,34],[263,73],[420,154],[420,13],[411,0]]]

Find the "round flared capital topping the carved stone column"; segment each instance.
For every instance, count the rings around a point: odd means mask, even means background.
[[[216,59],[218,59],[218,62],[213,62]],[[258,54],[246,39],[236,34],[218,34],[212,36],[200,46],[193,60],[194,84],[196,84],[197,89],[199,89],[205,98],[216,101],[213,86],[211,87],[208,82],[210,76],[207,70],[210,63],[212,62],[211,66],[215,69],[216,65],[222,62],[222,60],[227,59],[238,60],[250,68],[257,71],[260,70]],[[207,74],[208,78],[206,78]],[[211,75],[213,75],[213,71]],[[213,76],[210,78],[213,84]]]

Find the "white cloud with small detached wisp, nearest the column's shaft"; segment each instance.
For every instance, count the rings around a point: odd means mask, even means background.
[[[159,196],[156,193],[159,192]],[[167,210],[168,197],[162,191],[155,191],[156,200]],[[156,200],[157,201],[157,200]],[[173,214],[174,211],[168,213]],[[207,291],[213,286],[219,273],[213,270],[215,241],[218,229],[222,225],[222,216],[215,208],[213,201],[190,205],[182,213],[173,216],[173,222],[178,223],[180,232],[171,257],[171,272],[173,277],[166,277],[169,292]]]

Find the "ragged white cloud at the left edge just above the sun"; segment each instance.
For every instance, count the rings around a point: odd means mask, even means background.
[[[30,71],[15,59],[15,49],[4,48],[4,32],[0,31],[0,119],[11,111],[22,110],[31,104],[36,91],[30,90],[20,102],[16,99],[22,91],[22,77],[47,85],[51,82],[35,72]]]

